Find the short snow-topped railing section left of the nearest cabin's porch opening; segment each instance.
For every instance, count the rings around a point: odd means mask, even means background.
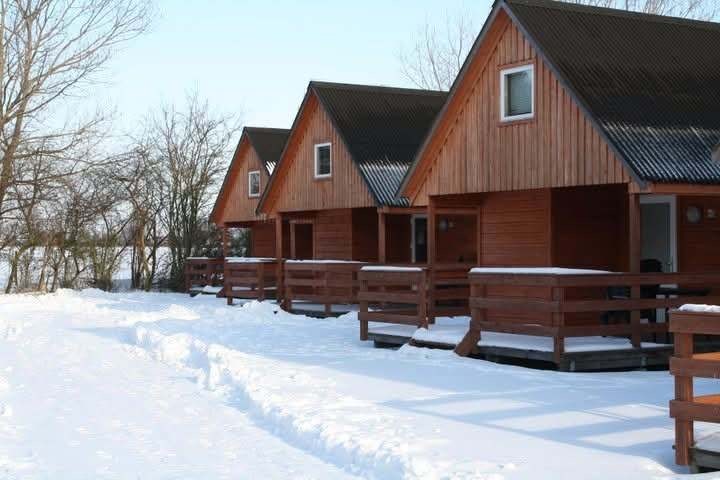
[[[428,273],[420,267],[365,267],[360,271],[360,339],[368,322],[428,326]],[[372,308],[372,310],[371,310]]]

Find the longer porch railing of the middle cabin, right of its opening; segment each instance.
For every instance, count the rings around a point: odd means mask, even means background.
[[[333,305],[358,302],[358,272],[362,262],[332,260],[287,260],[283,266],[284,308],[293,310],[294,301],[323,305],[331,315]]]

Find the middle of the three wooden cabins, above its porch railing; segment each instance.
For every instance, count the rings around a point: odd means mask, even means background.
[[[445,98],[310,82],[257,210],[276,219],[276,250],[291,259],[424,263],[424,208],[395,194]]]

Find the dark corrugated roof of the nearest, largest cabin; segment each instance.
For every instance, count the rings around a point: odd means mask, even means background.
[[[720,25],[501,0],[635,178],[720,183]]]

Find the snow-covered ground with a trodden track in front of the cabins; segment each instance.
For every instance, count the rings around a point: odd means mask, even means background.
[[[179,294],[0,296],[0,478],[686,472],[673,464],[667,372],[570,374],[373,349],[355,315]]]

